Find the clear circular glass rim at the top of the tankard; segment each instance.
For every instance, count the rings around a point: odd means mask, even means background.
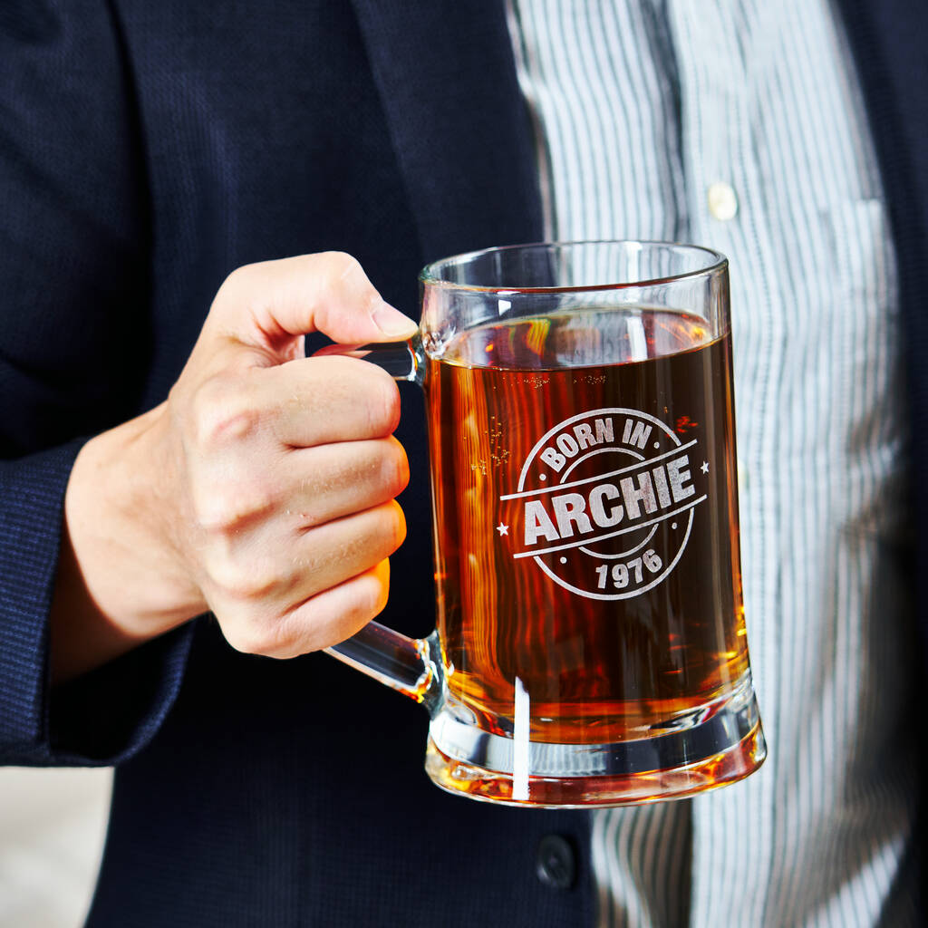
[[[473,261],[483,255],[501,253],[503,251],[531,251],[535,249],[567,249],[585,245],[640,245],[640,246],[661,246],[685,251],[698,251],[711,259],[711,263],[703,265],[697,270],[685,271],[680,274],[669,274],[664,277],[648,277],[642,280],[627,280],[624,282],[614,282],[608,284],[581,284],[562,287],[504,287],[504,286],[482,286],[478,284],[462,284],[454,280],[447,280],[445,277],[438,275],[439,267],[448,267],[452,264],[464,264]],[[491,248],[481,248],[474,251],[463,251],[460,254],[453,254],[447,258],[440,258],[438,261],[432,261],[426,264],[419,272],[419,283],[428,287],[439,287],[447,290],[465,290],[474,293],[494,293],[499,296],[518,296],[521,293],[593,293],[604,290],[633,290],[642,287],[656,287],[661,284],[673,283],[677,280],[686,280],[690,277],[700,277],[702,275],[713,274],[728,266],[728,258],[715,249],[707,248],[704,245],[694,245],[690,242],[682,241],[661,241],[660,239],[650,238],[589,238],[579,241],[535,241],[525,242],[520,245],[496,245]]]

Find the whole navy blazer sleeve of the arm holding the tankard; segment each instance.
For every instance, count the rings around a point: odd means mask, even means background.
[[[49,690],[65,487],[139,409],[151,217],[129,56],[102,0],[0,5],[0,762],[106,764],[174,701],[189,628]]]

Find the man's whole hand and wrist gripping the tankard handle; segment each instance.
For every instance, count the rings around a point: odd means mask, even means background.
[[[303,357],[303,334],[415,329],[345,254],[233,272],[167,402],[75,462],[53,677],[207,609],[233,647],[275,657],[335,644],[380,612],[406,533],[399,394],[365,361]]]

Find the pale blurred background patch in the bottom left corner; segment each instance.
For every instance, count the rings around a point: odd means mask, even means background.
[[[0,928],[79,928],[110,806],[110,769],[0,767]]]

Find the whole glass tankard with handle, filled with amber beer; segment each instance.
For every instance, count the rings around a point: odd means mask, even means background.
[[[329,652],[425,705],[451,792],[616,806],[753,772],[726,259],[539,244],[419,279],[420,337],[355,354],[426,392],[437,627]]]

